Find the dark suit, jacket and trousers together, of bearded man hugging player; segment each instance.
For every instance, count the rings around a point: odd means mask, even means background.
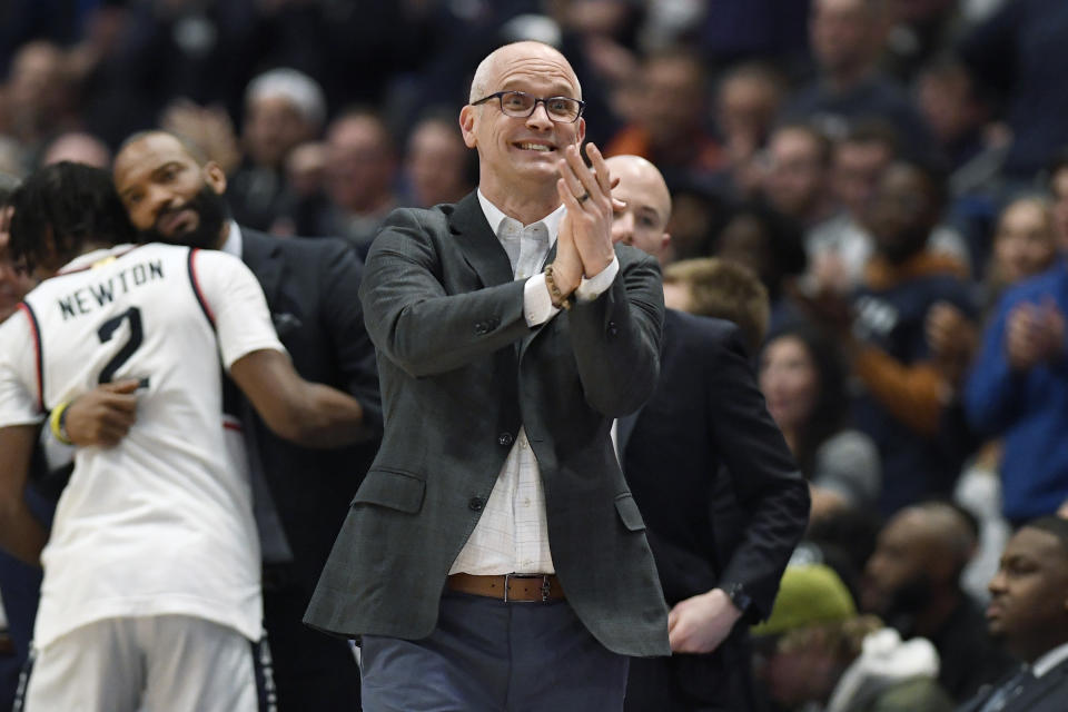
[[[278,238],[247,228],[241,238],[243,259],[264,289],[294,367],[308,380],[352,394],[364,409],[367,441],[336,449],[281,439],[251,407],[241,417],[249,464],[264,475],[293,554],[264,575],[279,708],[358,710],[359,676],[348,645],[309,630],[301,616],[382,434],[375,352],[357,294],[363,265],[338,239]]]

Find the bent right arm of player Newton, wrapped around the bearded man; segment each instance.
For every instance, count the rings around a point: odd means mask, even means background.
[[[308,383],[289,355],[261,348],[230,365],[230,377],[271,431],[305,447],[340,447],[358,439],[359,400],[329,386]]]

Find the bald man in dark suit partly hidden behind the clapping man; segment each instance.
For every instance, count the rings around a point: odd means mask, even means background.
[[[625,204],[613,239],[659,257],[671,239],[663,177],[637,156],[607,165],[620,180],[612,196]],[[746,339],[723,316],[666,310],[656,389],[619,422],[671,606],[672,656],[631,661],[633,712],[755,709],[746,631],[771,612],[808,521],[808,487],[768,414]]]

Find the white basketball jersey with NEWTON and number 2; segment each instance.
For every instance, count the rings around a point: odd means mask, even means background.
[[[100,383],[141,379],[137,422],[80,448],[41,555],[36,642],[106,617],[192,615],[259,637],[259,542],[230,464],[221,369],[284,350],[237,258],[168,245],[83,255],[0,326],[0,426]]]

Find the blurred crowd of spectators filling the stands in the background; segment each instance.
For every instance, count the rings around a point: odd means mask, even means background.
[[[456,116],[515,39],[572,61],[589,140],[663,172],[665,266],[763,283],[798,556],[937,637],[921,603],[987,597],[1011,528],[1068,501],[1064,0],[7,0],[0,172],[108,167],[161,126],[243,226],[366,254],[395,207],[474,188]]]

